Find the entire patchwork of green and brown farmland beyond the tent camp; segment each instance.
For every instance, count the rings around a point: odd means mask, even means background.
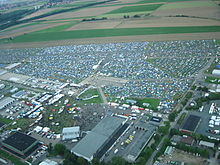
[[[69,4],[69,7],[86,3],[93,1],[75,2]],[[68,5],[61,5],[38,12],[41,15],[66,8]],[[0,32],[0,38],[4,38],[0,40],[0,44],[7,46],[14,43],[13,46],[16,47],[23,42],[44,46],[45,44],[40,44],[43,41],[51,41],[49,45],[57,45],[57,42],[65,45],[132,40],[211,39],[213,36],[219,39],[220,21],[215,18],[220,18],[220,15],[217,11],[219,7],[208,0],[121,0],[51,15],[5,29]],[[38,15],[38,12],[33,14]],[[103,17],[106,20],[95,20]],[[82,21],[91,18],[93,20]]]

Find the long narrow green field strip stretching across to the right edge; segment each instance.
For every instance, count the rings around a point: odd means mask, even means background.
[[[74,31],[61,31],[61,32],[50,32],[50,33],[30,33],[15,37],[10,42],[14,42],[14,43],[40,42],[40,41],[80,39],[80,38],[152,35],[152,34],[200,33],[200,32],[220,32],[220,26],[119,28],[119,29],[74,30]],[[7,43],[6,40],[0,40],[0,42]]]

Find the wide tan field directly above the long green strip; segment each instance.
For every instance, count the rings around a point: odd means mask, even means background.
[[[177,26],[220,26],[220,21],[186,18],[186,17],[152,17],[148,19],[130,19],[130,20],[105,20],[81,22],[67,29],[85,30],[85,29],[109,29],[109,28],[139,28],[139,27],[177,27]]]

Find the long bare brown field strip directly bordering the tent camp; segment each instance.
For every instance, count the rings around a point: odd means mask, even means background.
[[[100,38],[51,41],[51,42],[1,44],[0,49],[37,48],[37,47],[50,47],[50,46],[60,46],[60,45],[91,44],[91,43],[99,44],[99,43],[116,43],[116,42],[135,42],[135,41],[140,42],[140,41],[202,40],[202,39],[220,39],[220,32],[100,37]]]

